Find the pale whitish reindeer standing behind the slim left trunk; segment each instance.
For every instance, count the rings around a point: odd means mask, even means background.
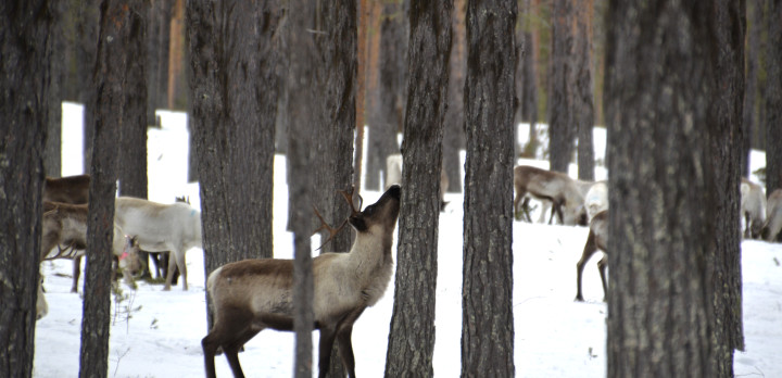
[[[138,237],[140,248],[148,252],[171,251],[164,291],[171,290],[175,267],[188,289],[185,252],[201,247],[201,213],[188,204],[162,204],[131,197],[114,200],[114,222],[125,232]]]

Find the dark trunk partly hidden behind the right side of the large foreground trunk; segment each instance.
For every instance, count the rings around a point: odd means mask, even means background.
[[[742,142],[744,133],[744,29],[745,3],[714,1],[712,35],[718,47],[714,94],[716,121],[710,122],[709,137],[717,159],[714,188],[716,201],[714,268],[712,342],[717,377],[733,377],[733,350],[744,350],[742,322],[742,270],[740,202]]]

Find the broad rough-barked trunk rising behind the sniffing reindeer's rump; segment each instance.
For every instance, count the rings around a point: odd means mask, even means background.
[[[269,2],[188,2],[192,138],[206,275],[272,257],[277,15]]]

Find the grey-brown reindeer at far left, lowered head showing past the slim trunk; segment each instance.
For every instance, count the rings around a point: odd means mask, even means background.
[[[43,216],[41,234],[40,261],[55,259],[74,260],[73,286],[71,292],[78,291],[78,279],[81,275],[80,259],[87,248],[87,204],[68,204],[59,202],[43,202]],[[133,249],[129,238],[114,224],[112,253],[118,260],[125,282],[133,286],[133,275],[141,267],[138,255],[128,257]],[[64,245],[64,248],[63,248]],[[56,247],[56,252],[51,252]]]

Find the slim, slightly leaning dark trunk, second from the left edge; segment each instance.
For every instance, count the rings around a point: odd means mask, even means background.
[[[114,236],[114,193],[119,133],[126,98],[128,60],[139,0],[104,0],[100,7],[100,32],[94,67],[96,90],[92,167],[89,171],[89,218],[87,265],[81,317],[79,377],[109,374],[109,325],[111,320],[111,264]]]

